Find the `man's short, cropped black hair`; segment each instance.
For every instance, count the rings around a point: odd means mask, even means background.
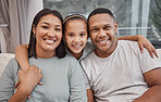
[[[106,8],[98,8],[98,9],[95,9],[95,10],[89,14],[87,22],[89,22],[89,18],[90,18],[91,16],[94,16],[94,15],[96,15],[96,14],[102,14],[102,13],[109,14],[109,15],[115,21],[113,13],[112,13],[109,9],[106,9]]]

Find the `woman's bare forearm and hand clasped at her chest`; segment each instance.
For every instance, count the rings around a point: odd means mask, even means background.
[[[25,102],[41,77],[41,69],[38,69],[38,67],[35,67],[34,65],[25,73],[18,71],[20,85],[9,102]]]

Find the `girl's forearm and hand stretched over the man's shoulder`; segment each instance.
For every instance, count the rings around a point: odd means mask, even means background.
[[[143,52],[144,48],[146,48],[151,58],[153,58],[153,54],[158,58],[157,51],[154,49],[154,47],[151,44],[151,42],[144,37],[143,35],[135,35],[135,36],[123,36],[123,37],[119,37],[119,40],[132,40],[132,41],[138,41],[139,44],[139,49]],[[152,54],[153,53],[153,54]]]

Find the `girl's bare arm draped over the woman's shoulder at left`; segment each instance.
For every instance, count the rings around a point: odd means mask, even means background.
[[[28,44],[20,44],[16,47],[16,50],[15,50],[15,59],[23,72],[26,72],[29,67],[27,49],[28,49]]]

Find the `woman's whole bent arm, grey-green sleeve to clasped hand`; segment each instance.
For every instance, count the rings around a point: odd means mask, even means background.
[[[26,73],[22,71],[17,72],[18,67],[15,59],[10,60],[5,66],[0,77],[0,102],[7,102],[9,100],[9,102],[25,101],[42,77],[41,69],[38,69],[34,65]],[[20,78],[20,86],[15,91],[14,85],[17,81],[17,76]]]

